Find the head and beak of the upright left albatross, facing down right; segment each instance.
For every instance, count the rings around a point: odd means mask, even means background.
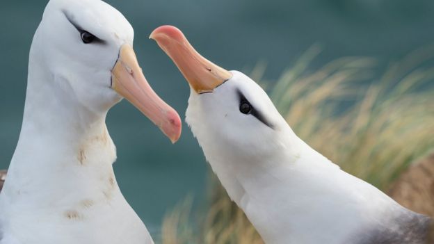
[[[126,98],[175,142],[179,115],[147,83],[133,39],[127,19],[103,1],[51,0],[33,39],[31,56],[37,58],[31,57],[30,65],[49,70],[54,81],[49,86],[67,90],[70,99],[93,113],[106,113]]]

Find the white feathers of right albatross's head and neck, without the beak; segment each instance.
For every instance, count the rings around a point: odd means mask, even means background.
[[[357,243],[373,236],[360,231],[394,229],[405,209],[300,140],[253,81],[233,74],[213,93],[192,90],[186,122],[223,187],[266,243]],[[237,89],[275,129],[238,111]]]

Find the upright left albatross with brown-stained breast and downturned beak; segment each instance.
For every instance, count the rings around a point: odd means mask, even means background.
[[[105,118],[124,97],[172,142],[181,120],[147,83],[133,38],[127,19],[103,1],[47,4],[0,194],[1,244],[153,243],[116,182]]]

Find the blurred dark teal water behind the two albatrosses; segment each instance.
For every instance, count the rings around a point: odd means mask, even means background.
[[[152,41],[162,24],[182,29],[201,54],[227,70],[268,63],[276,79],[314,43],[323,52],[313,67],[341,56],[375,56],[383,63],[431,44],[434,1],[404,0],[111,0],[136,31],[135,49],[145,76],[184,117],[188,86]],[[0,3],[0,168],[7,168],[19,136],[26,69],[33,33],[47,1]],[[184,124],[171,145],[147,118],[122,101],[107,118],[118,148],[115,173],[129,203],[152,232],[166,210],[187,193],[203,203],[207,164]]]

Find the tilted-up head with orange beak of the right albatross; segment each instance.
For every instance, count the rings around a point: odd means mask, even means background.
[[[266,92],[241,72],[224,70],[203,58],[174,26],[161,26],[150,38],[172,58],[191,87],[186,122],[212,164],[261,161],[283,145],[287,122]]]

